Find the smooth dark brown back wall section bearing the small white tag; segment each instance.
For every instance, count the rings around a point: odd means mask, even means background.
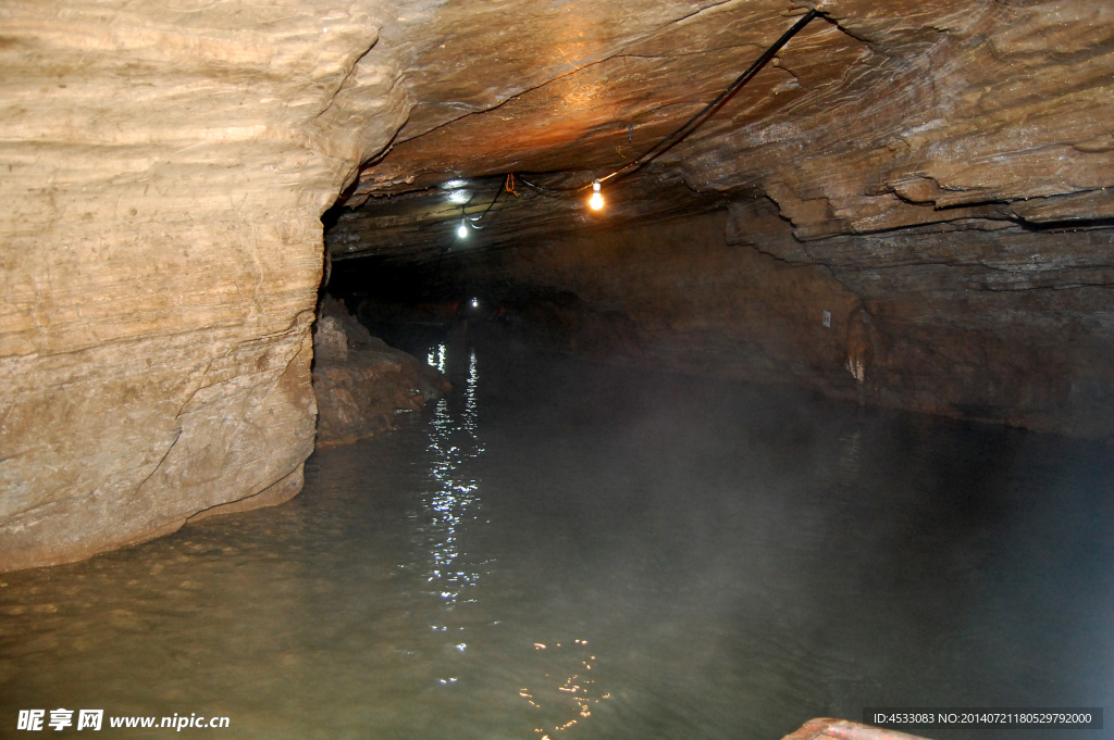
[[[658,369],[795,381],[848,395],[843,368],[847,318],[858,297],[818,265],[790,265],[726,243],[719,211],[644,226],[596,229],[537,247],[495,253],[476,284],[510,284],[546,295],[575,294],[600,320],[564,320],[558,332],[600,334],[622,315],[633,342],[607,347],[594,336],[566,346],[594,356],[622,356]],[[831,328],[821,319],[833,317]],[[615,324],[616,322],[612,322]],[[606,334],[605,334],[606,336]]]

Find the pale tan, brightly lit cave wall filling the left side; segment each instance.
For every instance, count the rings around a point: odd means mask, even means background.
[[[301,489],[320,216],[405,117],[384,6],[0,9],[0,570]]]

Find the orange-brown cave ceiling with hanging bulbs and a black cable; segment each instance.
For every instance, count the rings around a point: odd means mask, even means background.
[[[692,136],[605,187],[719,95],[812,4],[413,3],[373,53],[410,112],[326,219],[334,259],[426,259],[766,197],[800,240],[1114,216],[1114,9],[1098,3],[817,3]],[[514,193],[504,189],[517,174]],[[524,181],[525,180],[525,181]],[[486,215],[485,215],[486,214]]]

